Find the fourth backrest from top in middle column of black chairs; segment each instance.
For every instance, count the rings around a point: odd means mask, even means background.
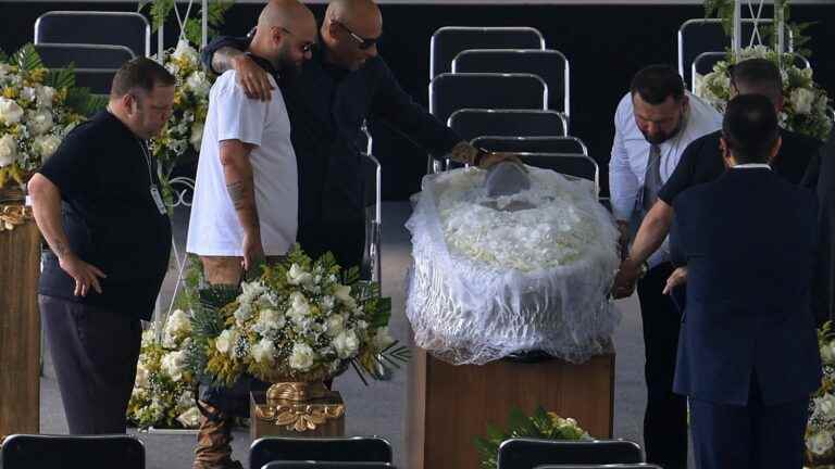
[[[465,107],[453,112],[447,124],[465,140],[481,136],[565,136],[565,116],[550,110]]]

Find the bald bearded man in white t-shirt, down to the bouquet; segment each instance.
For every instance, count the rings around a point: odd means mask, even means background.
[[[258,25],[249,56],[279,77],[299,73],[316,41],[310,10],[273,0]],[[296,154],[282,93],[250,100],[235,75],[221,75],[209,97],[186,248],[200,256],[212,284],[237,284],[264,256],[285,254],[298,225]]]

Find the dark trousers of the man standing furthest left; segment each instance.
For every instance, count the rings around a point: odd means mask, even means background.
[[[139,319],[38,296],[71,434],[125,433],[141,344]]]

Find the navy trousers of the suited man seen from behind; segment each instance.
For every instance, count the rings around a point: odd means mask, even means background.
[[[767,406],[751,384],[747,406],[690,400],[698,469],[800,469],[809,398]]]

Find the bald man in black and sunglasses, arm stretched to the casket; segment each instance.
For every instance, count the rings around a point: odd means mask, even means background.
[[[297,79],[278,80],[298,155],[299,243],[313,256],[333,252],[345,267],[361,263],[365,242],[356,144],[363,119],[385,121],[437,159],[481,165],[498,160],[462,141],[402,90],[377,54],[382,34],[383,17],[372,0],[334,0],[320,27],[321,50]],[[215,40],[203,51],[203,63],[216,72],[234,68],[250,98],[267,99],[274,92],[269,74],[241,53],[248,40]]]

